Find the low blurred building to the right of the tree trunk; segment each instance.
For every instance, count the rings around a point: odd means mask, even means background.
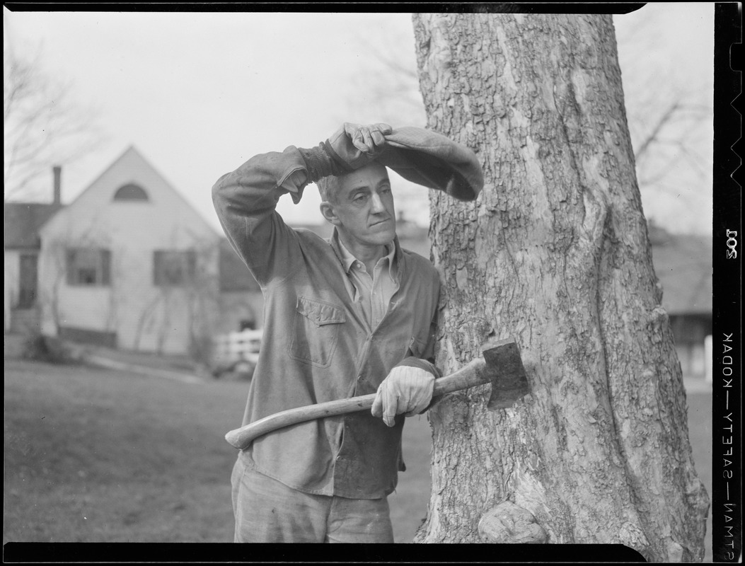
[[[683,377],[703,381],[712,332],[713,246],[711,237],[672,235],[650,226],[652,261],[662,284]]]

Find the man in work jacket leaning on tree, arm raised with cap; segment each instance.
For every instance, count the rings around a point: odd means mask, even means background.
[[[404,469],[405,416],[431,402],[440,293],[434,267],[399,246],[383,163],[409,168],[415,179],[431,180],[437,168],[392,150],[395,140],[386,124],[344,124],[319,147],[255,156],[213,188],[223,229],[264,293],[243,424],[377,392],[370,413],[286,427],[241,451],[232,474],[237,542],[393,542],[387,495]],[[406,135],[399,142],[411,144]],[[447,168],[457,161],[451,143],[442,146]],[[460,186],[448,175],[435,188]],[[309,182],[319,185],[321,213],[335,226],[329,241],[289,228],[276,213],[282,194],[298,203]]]

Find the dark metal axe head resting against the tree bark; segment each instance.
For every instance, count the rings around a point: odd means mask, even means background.
[[[481,346],[481,352],[484,353],[486,371],[492,385],[487,409],[507,409],[530,392],[515,340],[487,342]]]

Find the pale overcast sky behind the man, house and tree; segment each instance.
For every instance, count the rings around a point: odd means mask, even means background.
[[[64,203],[133,145],[219,232],[210,189],[251,156],[313,147],[344,121],[424,125],[401,123],[422,121],[419,111],[375,104],[375,72],[385,67],[373,51],[393,49],[397,63],[416,68],[408,13],[3,15],[6,42],[39,52],[42,70],[71,85],[105,135],[94,152],[62,164]],[[711,105],[714,4],[647,4],[614,25],[630,121],[641,113],[644,124],[644,112],[675,96]],[[691,169],[700,159],[682,159],[658,188],[642,191],[647,219],[711,233],[711,136],[711,124],[698,124],[692,143],[704,162]],[[50,172],[37,184],[51,194],[51,182]],[[426,224],[427,190],[407,190],[405,214]],[[299,206],[283,197],[279,212],[314,223],[319,202],[309,190]]]

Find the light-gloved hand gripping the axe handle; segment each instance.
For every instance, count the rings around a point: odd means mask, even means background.
[[[434,375],[424,369],[411,366],[394,367],[378,387],[373,401],[373,416],[380,416],[392,427],[394,417],[422,413],[432,400]]]

